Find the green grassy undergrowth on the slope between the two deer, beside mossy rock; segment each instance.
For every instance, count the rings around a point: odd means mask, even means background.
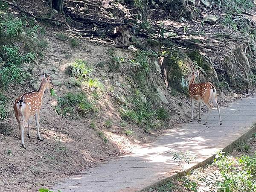
[[[154,84],[149,84],[150,74],[154,73],[151,66],[150,57],[154,53],[141,51],[131,59],[130,65],[133,67],[132,78],[135,86],[132,95],[126,96],[127,103],[119,108],[121,117],[126,121],[133,121],[144,127],[144,131],[150,133],[151,129],[157,130],[169,119],[168,111],[157,102],[158,95]],[[131,134],[126,131],[125,134]]]

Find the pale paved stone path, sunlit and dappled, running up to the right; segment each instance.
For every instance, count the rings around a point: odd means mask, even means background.
[[[233,143],[256,122],[256,98],[239,99],[221,108],[222,125],[218,111],[212,111],[207,125],[192,122],[167,130],[154,143],[143,145],[131,155],[85,169],[52,187],[62,192],[134,192],[164,180],[177,172],[180,166],[172,160],[173,151],[190,151],[197,158],[195,166],[212,157],[216,151]]]

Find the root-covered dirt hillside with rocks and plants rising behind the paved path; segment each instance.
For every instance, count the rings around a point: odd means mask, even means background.
[[[50,2],[0,0],[3,191],[37,190],[189,122],[186,78],[196,69],[197,81],[215,84],[222,106],[254,93],[250,0]],[[46,91],[44,141],[31,118],[25,150],[12,105],[38,89],[44,73],[57,96]]]

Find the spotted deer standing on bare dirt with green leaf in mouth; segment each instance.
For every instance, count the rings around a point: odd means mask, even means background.
[[[42,99],[44,96],[44,91],[46,89],[53,88],[52,82],[50,81],[50,76],[45,77],[45,74],[41,76],[41,84],[37,91],[32,91],[28,93],[24,93],[20,95],[14,102],[14,111],[15,117],[19,124],[20,136],[22,147],[25,148],[24,144],[24,128],[26,123],[28,123],[28,132],[27,136],[30,138],[30,129],[29,129],[29,118],[31,116],[35,116],[35,123],[37,128],[37,139],[43,141],[41,139],[39,133],[39,112],[42,106]],[[25,148],[26,149],[26,148]]]

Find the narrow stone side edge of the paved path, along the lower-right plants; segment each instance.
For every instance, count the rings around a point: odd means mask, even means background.
[[[245,140],[249,139],[251,137],[251,135],[253,133],[256,132],[256,123],[254,123],[253,125],[251,125],[251,128],[249,131],[247,131],[246,133],[244,133],[243,135],[241,135],[241,137],[239,137],[237,140],[233,141],[232,143],[230,143],[229,145],[227,145],[226,147],[224,147],[222,149],[223,152],[232,152],[235,145],[236,144],[241,144],[242,142],[244,142]],[[215,154],[212,155],[211,157],[207,158],[206,160],[196,164],[195,166],[192,166],[190,167],[189,169],[186,169],[185,171],[183,172],[178,172],[176,173],[175,175],[172,175],[170,177],[166,177],[160,181],[157,181],[153,184],[151,184],[150,186],[146,186],[144,187],[142,190],[140,190],[139,192],[143,192],[143,191],[146,191],[150,188],[155,188],[155,187],[158,187],[158,186],[162,186],[162,185],[165,185],[168,181],[172,180],[172,179],[176,179],[178,177],[181,177],[182,175],[184,175],[185,172],[189,172],[189,171],[192,171],[192,170],[195,170],[199,167],[204,167],[206,166],[207,164],[209,163],[212,163],[213,160],[215,159]]]

